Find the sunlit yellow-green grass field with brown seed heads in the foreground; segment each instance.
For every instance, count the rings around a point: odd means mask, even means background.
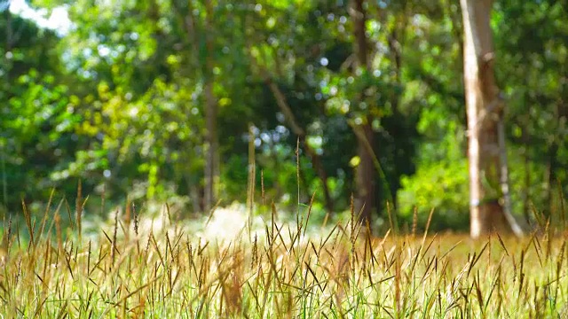
[[[69,239],[57,212],[26,214],[26,236],[7,228],[3,317],[568,317],[566,233],[370,237],[352,218],[308,230],[309,213],[268,213],[206,239],[168,214],[149,230],[126,213],[91,236],[77,222]]]

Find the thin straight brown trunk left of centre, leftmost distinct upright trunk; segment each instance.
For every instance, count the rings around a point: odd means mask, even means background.
[[[218,137],[217,137],[217,101],[213,92],[213,38],[211,35],[213,8],[211,1],[206,1],[205,41],[207,58],[205,60],[205,191],[204,208],[209,210],[215,203],[218,176]]]

